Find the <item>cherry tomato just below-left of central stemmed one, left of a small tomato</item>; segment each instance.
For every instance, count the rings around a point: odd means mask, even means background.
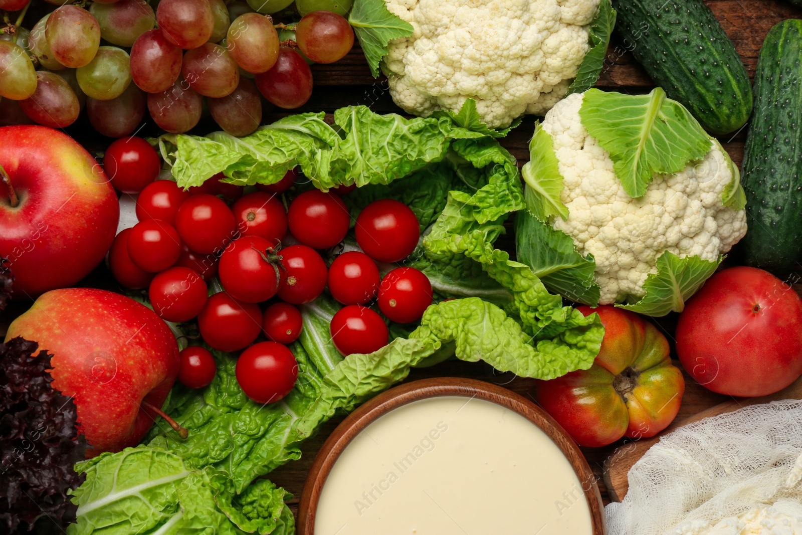
[[[198,314],[201,337],[217,351],[237,351],[248,347],[261,331],[258,305],[237,301],[220,292],[206,300]]]

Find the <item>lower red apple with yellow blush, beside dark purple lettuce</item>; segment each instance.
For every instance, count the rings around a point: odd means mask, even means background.
[[[75,399],[91,456],[138,444],[178,375],[178,345],[167,324],[106,290],[43,294],[11,323],[6,342],[17,336],[54,355],[51,385]]]

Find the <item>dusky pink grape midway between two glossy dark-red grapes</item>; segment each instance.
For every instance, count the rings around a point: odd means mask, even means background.
[[[184,54],[181,74],[195,91],[220,98],[230,95],[240,82],[237,63],[220,45],[206,43]]]

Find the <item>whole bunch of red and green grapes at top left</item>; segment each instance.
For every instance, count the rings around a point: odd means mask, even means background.
[[[98,132],[122,137],[147,108],[159,128],[180,133],[198,124],[206,99],[225,132],[245,136],[261,123],[262,96],[302,106],[309,63],[338,61],[354,44],[342,16],[350,0],[298,0],[302,18],[290,24],[267,15],[286,0],[160,0],[155,13],[147,0],[98,0],[88,10],[47,0],[59,7],[28,31],[29,2],[0,0],[0,10],[18,12],[0,33],[0,124],[64,128],[86,107]]]

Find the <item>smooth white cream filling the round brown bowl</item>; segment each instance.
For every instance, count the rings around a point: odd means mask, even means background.
[[[589,484],[589,483],[586,483]],[[383,415],[323,485],[315,535],[590,535],[582,484],[523,416],[456,396]]]

